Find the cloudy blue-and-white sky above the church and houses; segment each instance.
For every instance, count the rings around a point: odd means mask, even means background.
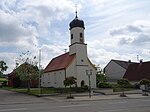
[[[0,0],[0,60],[9,67],[30,57],[45,68],[69,51],[69,23],[85,24],[88,57],[101,68],[111,59],[150,60],[150,0]]]

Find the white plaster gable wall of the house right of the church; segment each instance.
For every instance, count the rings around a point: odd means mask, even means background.
[[[107,79],[110,82],[117,81],[118,79],[123,78],[125,72],[126,72],[126,69],[124,69],[123,67],[116,64],[113,61],[111,61],[105,68]]]

